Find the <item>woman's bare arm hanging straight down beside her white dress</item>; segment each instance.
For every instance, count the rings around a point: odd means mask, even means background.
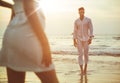
[[[28,20],[32,26],[34,33],[38,37],[38,40],[41,42],[42,49],[43,49],[42,63],[44,63],[46,66],[49,66],[49,64],[52,63],[51,51],[50,51],[47,37],[44,33],[41,22],[39,20],[39,17],[35,11],[36,9],[34,7],[33,1],[34,0],[29,0],[29,2],[28,2],[28,0],[23,0],[24,10],[25,10],[26,16],[28,17]]]

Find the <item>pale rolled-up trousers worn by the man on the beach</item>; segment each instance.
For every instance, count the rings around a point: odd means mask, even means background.
[[[89,45],[88,41],[79,41],[78,42],[78,62],[79,65],[83,65],[88,63],[88,51],[89,51]],[[83,55],[84,55],[84,60],[83,60]]]

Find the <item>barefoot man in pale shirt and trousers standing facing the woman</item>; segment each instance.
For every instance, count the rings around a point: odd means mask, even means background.
[[[81,69],[81,74],[86,74],[88,63],[89,44],[91,44],[93,35],[93,26],[91,19],[84,16],[85,9],[80,7],[78,9],[80,17],[74,22],[73,42],[78,49],[78,62]],[[84,55],[84,60],[83,60]],[[83,68],[83,64],[85,64]]]

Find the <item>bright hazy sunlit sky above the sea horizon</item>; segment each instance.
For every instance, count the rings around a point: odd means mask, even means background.
[[[91,18],[94,34],[120,34],[120,0],[41,0],[40,6],[47,34],[71,34],[79,7],[84,7],[85,16]],[[1,30],[7,26],[11,11],[2,7],[0,10]]]

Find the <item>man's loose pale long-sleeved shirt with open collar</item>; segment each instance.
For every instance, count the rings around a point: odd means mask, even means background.
[[[73,38],[80,41],[88,41],[90,36],[93,37],[93,25],[91,19],[84,17],[82,21],[80,18],[75,20]]]

